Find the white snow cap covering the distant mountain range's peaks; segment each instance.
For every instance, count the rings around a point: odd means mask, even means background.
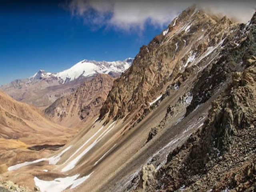
[[[108,74],[110,72],[114,73],[122,73],[125,72],[133,62],[134,58],[127,58],[124,61],[89,61],[82,60],[76,63],[71,68],[64,70],[62,72],[58,72],[56,74],[45,72],[44,70],[39,70],[36,74],[31,76],[29,81],[38,80],[41,78],[58,78],[58,80],[64,84],[65,82],[69,82],[77,79],[80,76],[90,77],[95,74]]]

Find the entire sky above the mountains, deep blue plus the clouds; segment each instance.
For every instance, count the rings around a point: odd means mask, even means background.
[[[0,4],[0,85],[82,59],[134,57],[172,19],[198,4],[247,22],[256,2],[202,0],[22,0]],[[232,2],[232,3],[231,3]]]

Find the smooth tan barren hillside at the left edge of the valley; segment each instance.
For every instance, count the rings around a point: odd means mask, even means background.
[[[49,154],[49,151],[37,152],[37,147],[34,150],[29,148],[44,145],[41,149],[51,146],[58,148],[74,134],[74,130],[51,122],[34,106],[17,102],[0,92],[0,167]]]

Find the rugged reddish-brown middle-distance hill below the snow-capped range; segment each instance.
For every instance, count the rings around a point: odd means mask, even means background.
[[[59,124],[75,127],[79,123],[98,116],[102,104],[112,88],[114,78],[108,74],[99,74],[85,81],[70,96],[61,97],[44,110]]]

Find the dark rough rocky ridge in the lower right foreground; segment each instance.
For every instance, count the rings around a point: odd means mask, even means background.
[[[247,65],[212,102],[202,128],[135,191],[256,190],[256,58]]]

